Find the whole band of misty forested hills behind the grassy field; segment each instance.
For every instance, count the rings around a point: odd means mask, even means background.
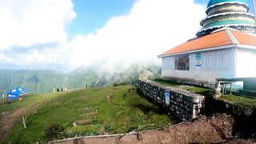
[[[99,72],[93,67],[81,67],[68,74],[54,70],[0,70],[0,93],[17,86],[34,94],[51,92],[53,88],[82,88],[84,85],[111,86],[115,83],[132,83],[136,78],[159,76],[158,66],[130,66],[118,72]]]

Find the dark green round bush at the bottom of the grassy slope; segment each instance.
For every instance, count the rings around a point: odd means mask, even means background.
[[[52,141],[56,139],[61,139],[65,135],[64,127],[58,124],[52,124],[48,126],[45,130],[46,141]]]

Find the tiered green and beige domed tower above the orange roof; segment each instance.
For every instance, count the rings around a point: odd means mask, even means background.
[[[200,23],[202,27],[197,36],[210,34],[222,27],[231,27],[242,32],[255,33],[254,14],[248,13],[246,0],[210,0],[207,17]]]

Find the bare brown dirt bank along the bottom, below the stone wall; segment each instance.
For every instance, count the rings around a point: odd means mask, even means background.
[[[122,136],[100,138],[76,138],[57,143],[254,143],[246,140],[233,139],[233,118],[222,114],[206,118],[202,116],[194,122],[186,122],[175,126],[165,127],[162,130],[139,132]],[[230,140],[231,139],[231,140]]]

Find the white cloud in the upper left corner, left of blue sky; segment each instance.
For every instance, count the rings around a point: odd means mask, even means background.
[[[66,42],[75,18],[71,0],[1,0],[0,50],[43,42]]]

